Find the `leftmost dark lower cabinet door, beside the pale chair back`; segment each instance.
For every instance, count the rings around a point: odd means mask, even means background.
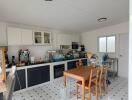
[[[8,76],[9,72],[6,73]],[[17,70],[14,91],[26,88],[25,69]]]

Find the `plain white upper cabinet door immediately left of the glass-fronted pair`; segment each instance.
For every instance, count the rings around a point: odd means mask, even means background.
[[[22,45],[33,44],[32,30],[22,29],[21,36],[22,36],[22,43],[21,43]]]

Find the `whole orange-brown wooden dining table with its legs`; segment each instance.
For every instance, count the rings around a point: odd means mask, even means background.
[[[66,78],[71,77],[78,81],[82,81],[82,100],[85,100],[85,81],[90,76],[90,71],[93,67],[83,66],[81,68],[75,68],[71,70],[64,71],[64,85],[66,86]]]

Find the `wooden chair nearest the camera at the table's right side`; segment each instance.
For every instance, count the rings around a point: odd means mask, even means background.
[[[99,74],[98,69],[92,68],[91,71],[90,71],[89,79],[85,81],[85,89],[88,90],[89,100],[91,100],[91,90],[93,88],[95,88],[96,100],[98,100],[98,90],[97,90],[98,89],[97,88],[98,74]],[[77,99],[78,99],[78,94],[79,94],[78,89],[79,89],[79,86],[82,86],[82,82],[78,81],[76,84],[77,84]]]

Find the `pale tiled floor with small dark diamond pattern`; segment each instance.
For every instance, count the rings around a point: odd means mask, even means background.
[[[40,87],[15,93],[13,100],[77,100],[75,82],[73,79],[68,79],[67,89],[64,89],[63,77],[61,77],[52,82],[44,83]],[[92,96],[92,100],[95,100],[94,96]],[[100,100],[128,100],[127,79],[116,78],[112,80],[110,91]]]

